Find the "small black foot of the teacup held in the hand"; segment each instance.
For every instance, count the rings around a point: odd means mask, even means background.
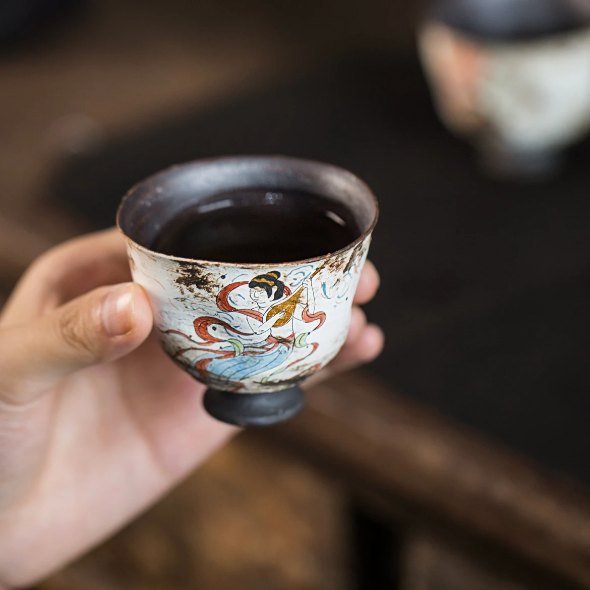
[[[232,394],[219,389],[207,389],[203,405],[207,412],[221,422],[237,426],[271,426],[299,414],[305,397],[298,387],[267,394]]]

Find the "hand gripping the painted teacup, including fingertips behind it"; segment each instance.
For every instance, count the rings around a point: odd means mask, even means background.
[[[32,584],[109,536],[238,429],[153,336],[116,230],[60,245],[0,314],[0,588]],[[379,278],[368,263],[357,303]],[[383,336],[353,308],[314,381],[374,358]]]

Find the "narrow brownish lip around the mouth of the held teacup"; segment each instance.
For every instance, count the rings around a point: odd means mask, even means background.
[[[303,258],[301,260],[293,260],[293,261],[278,262],[278,263],[230,263],[230,262],[222,262],[222,261],[218,261],[218,260],[204,260],[201,258],[183,258],[180,256],[173,256],[171,254],[163,254],[162,252],[158,252],[157,250],[151,250],[150,248],[147,248],[147,247],[143,246],[142,244],[139,244],[138,242],[133,240],[133,238],[129,237],[129,235],[127,235],[126,232],[124,232],[124,230],[122,228],[122,223],[121,223],[121,217],[122,217],[124,204],[127,201],[127,199],[129,199],[130,196],[132,196],[132,194],[144,183],[149,182],[149,181],[153,181],[154,179],[158,178],[158,176],[163,176],[163,175],[166,175],[170,172],[177,171],[182,168],[191,168],[191,166],[194,166],[196,164],[200,165],[200,164],[208,164],[208,163],[223,162],[223,161],[228,162],[228,161],[232,161],[232,160],[234,160],[234,161],[238,161],[238,160],[262,160],[262,161],[264,161],[264,160],[267,160],[267,161],[269,161],[269,160],[274,160],[274,161],[282,160],[287,165],[296,164],[296,165],[304,165],[304,166],[309,166],[309,165],[322,166],[323,168],[331,169],[333,172],[336,172],[339,175],[349,176],[355,182],[358,182],[365,189],[366,194],[369,196],[369,198],[371,198],[371,201],[375,207],[375,215],[373,217],[373,221],[371,222],[371,225],[369,225],[369,228],[366,231],[364,231],[358,238],[356,238],[356,240],[350,242],[345,247],[340,248],[339,250],[336,250],[334,252],[329,252],[326,254],[322,254],[319,256],[314,256],[312,258]],[[329,164],[326,162],[320,162],[319,160],[312,160],[312,159],[307,159],[307,158],[294,158],[291,156],[283,156],[283,155],[270,155],[270,156],[242,155],[242,156],[220,156],[218,158],[199,158],[197,160],[190,160],[189,162],[184,162],[182,164],[173,164],[172,166],[168,166],[168,168],[164,168],[164,169],[160,170],[159,172],[156,172],[150,176],[147,176],[146,178],[142,179],[141,181],[136,182],[135,185],[133,185],[129,189],[129,191],[127,191],[126,194],[124,194],[123,198],[121,199],[121,202],[119,203],[119,207],[117,208],[117,215],[116,215],[116,225],[117,225],[117,229],[119,230],[120,234],[123,236],[123,238],[125,238],[125,240],[127,242],[129,242],[130,244],[133,244],[133,246],[135,248],[143,251],[146,254],[156,255],[158,257],[166,258],[168,260],[178,261],[178,262],[182,262],[182,263],[195,264],[198,266],[207,265],[207,266],[232,266],[235,268],[260,268],[260,267],[267,267],[267,266],[273,266],[273,265],[274,266],[283,266],[283,267],[284,266],[299,266],[301,264],[314,263],[314,262],[317,262],[320,260],[326,260],[328,258],[332,258],[337,255],[343,254],[346,251],[349,251],[349,250],[352,250],[352,248],[355,248],[356,245],[362,243],[366,237],[371,235],[373,230],[375,229],[375,225],[377,225],[378,219],[379,219],[379,202],[378,202],[375,194],[373,194],[371,187],[369,187],[369,185],[365,181],[363,181],[358,176],[356,176],[356,174],[346,170],[345,168],[341,168],[340,166],[335,166],[333,164]]]

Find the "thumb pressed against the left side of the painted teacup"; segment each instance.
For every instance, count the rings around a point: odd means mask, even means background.
[[[152,310],[135,283],[100,287],[30,323],[0,331],[0,400],[22,404],[64,376],[136,349]]]

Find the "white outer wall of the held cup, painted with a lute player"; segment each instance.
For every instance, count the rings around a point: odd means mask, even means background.
[[[269,266],[189,263],[131,240],[127,250],[133,280],[148,293],[156,332],[168,355],[216,389],[255,394],[286,389],[336,356],[348,333],[370,241],[368,235],[333,257],[309,263]],[[266,318],[267,310],[288,296],[265,306],[266,293],[261,295],[265,301],[257,303],[248,283],[276,271],[295,293],[318,269],[291,320],[259,332],[262,321],[255,316]]]

